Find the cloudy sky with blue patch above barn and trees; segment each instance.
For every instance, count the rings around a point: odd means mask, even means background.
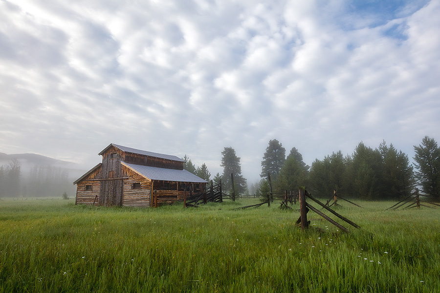
[[[271,139],[306,164],[440,140],[440,0],[0,0],[0,152],[89,169],[110,143],[248,183]]]

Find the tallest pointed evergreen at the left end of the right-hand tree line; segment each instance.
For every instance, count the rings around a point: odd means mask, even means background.
[[[278,140],[270,140],[264,152],[263,161],[261,161],[262,171],[260,176],[267,179],[267,174],[270,173],[271,178],[276,180],[285,161],[286,148]]]

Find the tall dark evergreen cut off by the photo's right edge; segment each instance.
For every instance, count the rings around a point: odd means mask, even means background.
[[[440,197],[440,148],[437,142],[425,136],[418,146],[414,146],[416,155],[416,176],[423,191],[430,193],[432,196]]]

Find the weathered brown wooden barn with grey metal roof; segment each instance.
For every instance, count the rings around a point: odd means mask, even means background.
[[[99,163],[73,184],[76,204],[154,207],[205,192],[207,181],[184,170],[172,156],[110,144]]]

